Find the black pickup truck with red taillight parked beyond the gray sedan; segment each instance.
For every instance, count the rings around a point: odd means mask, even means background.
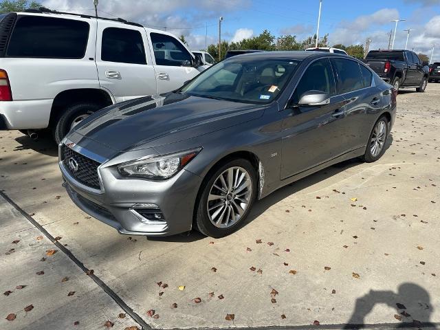
[[[423,92],[428,84],[428,63],[410,50],[371,50],[364,63],[397,90],[415,87]]]

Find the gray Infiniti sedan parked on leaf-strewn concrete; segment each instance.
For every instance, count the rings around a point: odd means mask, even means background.
[[[234,56],[78,124],[59,146],[63,185],[122,234],[225,236],[274,190],[345,159],[379,159],[396,95],[349,56]]]

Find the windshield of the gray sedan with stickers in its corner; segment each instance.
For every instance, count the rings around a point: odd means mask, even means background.
[[[233,102],[269,103],[283,91],[299,62],[287,58],[231,58],[206,70],[180,92]]]

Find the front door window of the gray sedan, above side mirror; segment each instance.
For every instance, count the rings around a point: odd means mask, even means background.
[[[294,104],[298,104],[306,91],[324,91],[330,96],[336,94],[335,78],[328,58],[311,63],[307,68],[292,97]]]

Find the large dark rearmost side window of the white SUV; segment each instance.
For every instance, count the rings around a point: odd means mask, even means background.
[[[23,16],[17,21],[8,56],[33,58],[83,58],[89,24],[72,19]]]

